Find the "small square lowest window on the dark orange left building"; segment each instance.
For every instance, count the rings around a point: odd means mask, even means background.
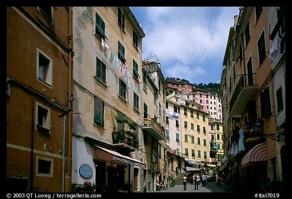
[[[36,156],[36,176],[53,177],[54,159]]]

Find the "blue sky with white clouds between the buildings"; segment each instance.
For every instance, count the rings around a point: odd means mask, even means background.
[[[166,77],[220,83],[239,7],[130,7],[145,32],[142,57],[156,55]]]

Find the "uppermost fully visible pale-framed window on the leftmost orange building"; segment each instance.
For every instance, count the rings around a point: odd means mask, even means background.
[[[37,49],[36,52],[37,64],[36,64],[36,75],[37,79],[52,86],[52,75],[53,75],[53,66],[52,60],[45,55],[41,50]]]

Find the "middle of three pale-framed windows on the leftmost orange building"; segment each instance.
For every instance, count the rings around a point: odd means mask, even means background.
[[[40,132],[48,132],[51,130],[51,109],[48,106],[42,105],[38,102],[35,103],[35,123],[36,128]]]

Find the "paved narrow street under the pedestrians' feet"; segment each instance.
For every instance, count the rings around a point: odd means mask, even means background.
[[[158,193],[166,193],[166,192],[193,192],[193,193],[197,193],[197,192],[233,192],[233,193],[239,193],[239,192],[244,192],[243,190],[240,190],[237,187],[220,187],[217,186],[216,182],[208,182],[206,187],[203,187],[202,184],[199,185],[199,189],[198,190],[194,190],[194,185],[188,183],[187,184],[187,190],[184,191],[184,185],[182,184],[178,184],[175,185],[174,187],[169,187],[166,190],[161,190],[161,191],[155,191]]]

